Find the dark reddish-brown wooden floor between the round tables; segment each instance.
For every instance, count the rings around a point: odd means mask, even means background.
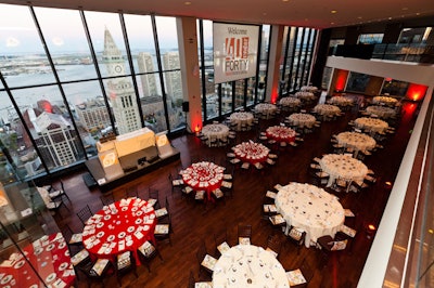
[[[359,102],[361,100],[359,96],[355,96],[355,99],[358,99]],[[292,243],[284,244],[280,261],[285,270],[298,267],[304,259],[314,266],[315,275],[309,287],[348,288],[357,286],[372,244],[372,239],[367,237],[360,225],[379,224],[391,191],[384,183],[386,181],[394,182],[416,120],[414,110],[416,108],[411,106],[404,114],[397,133],[384,143],[385,148],[365,161],[370,169],[376,172],[376,184],[365,193],[337,195],[344,208],[356,212],[357,223],[360,227],[350,249],[339,252],[324,262],[321,261],[321,251],[314,247],[302,247],[297,254],[297,248]],[[164,262],[155,259],[151,266],[151,273],[144,266],[139,266],[139,277],[136,278],[133,274],[125,276],[123,287],[188,287],[190,271],[193,271],[195,278],[199,279],[199,262],[195,257],[197,245],[205,240],[208,251],[214,252],[213,234],[219,234],[225,230],[228,232],[230,245],[234,245],[239,224],[252,224],[253,244],[265,246],[268,235],[273,232],[270,225],[261,220],[261,205],[266,191],[272,189],[278,183],[284,185],[291,181],[311,182],[308,172],[310,160],[316,156],[320,157],[322,154],[329,153],[331,135],[345,131],[348,128],[348,120],[355,118],[357,118],[357,109],[346,112],[344,117],[335,121],[323,122],[314,133],[305,135],[305,142],[301,146],[281,152],[276,167],[266,168],[260,172],[235,169],[233,197],[228,198],[226,204],[208,205],[206,210],[194,201],[181,198],[178,193],[171,194],[168,174],[170,172],[176,174],[179,167],[188,166],[192,159],[214,159],[215,162],[229,168],[230,163],[226,160],[228,148],[206,147],[191,134],[173,140],[173,145],[181,153],[180,161],[145,174],[114,191],[115,195],[120,198],[129,186],[139,184],[140,196],[146,198],[150,186],[159,189],[161,201],[168,196],[174,227],[173,245],[165,243],[158,245]],[[264,131],[266,127],[278,122],[279,119],[263,121],[260,130]],[[255,139],[257,133],[258,131],[239,132],[237,142]],[[82,225],[75,212],[87,204],[93,212],[102,208],[101,192],[87,188],[81,179],[84,172],[77,172],[63,179],[65,189],[73,204],[68,215],[62,211],[62,218],[54,218],[59,226],[67,223],[73,230],[80,231]],[[52,224],[48,223],[48,227],[53,227]],[[278,235],[282,240],[285,239],[282,233]],[[206,275],[202,275],[201,278],[207,279]],[[77,287],[87,287],[85,276],[80,275]],[[104,287],[117,287],[116,278],[113,275],[108,276]]]

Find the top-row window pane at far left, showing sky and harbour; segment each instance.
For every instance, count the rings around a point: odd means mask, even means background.
[[[8,86],[55,82],[29,9],[0,4],[0,43],[5,43],[0,45],[0,54],[4,55],[0,69]]]

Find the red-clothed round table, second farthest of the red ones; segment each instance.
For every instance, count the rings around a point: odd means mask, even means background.
[[[250,163],[265,162],[268,159],[270,149],[260,143],[253,141],[243,142],[232,147],[235,157]]]

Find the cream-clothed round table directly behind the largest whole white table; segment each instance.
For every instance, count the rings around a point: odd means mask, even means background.
[[[331,186],[337,178],[350,181],[362,181],[368,174],[368,167],[348,155],[327,154],[319,161],[322,171],[330,174],[329,183]]]

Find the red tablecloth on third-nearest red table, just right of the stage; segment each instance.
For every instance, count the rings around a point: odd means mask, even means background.
[[[224,181],[225,168],[213,162],[202,161],[192,163],[182,170],[182,181],[194,191],[205,191],[208,200],[212,199],[210,193],[221,186]]]

